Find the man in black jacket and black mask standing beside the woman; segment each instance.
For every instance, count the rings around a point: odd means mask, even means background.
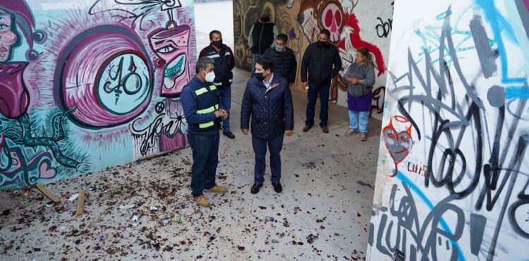
[[[305,90],[308,86],[307,120],[303,132],[307,132],[314,125],[314,111],[316,100],[320,95],[320,126],[324,133],[329,133],[327,120],[329,119],[329,91],[331,80],[341,70],[339,51],[329,43],[331,32],[324,29],[318,35],[318,41],[305,49],[301,61],[301,82]],[[308,82],[307,82],[308,70]]]

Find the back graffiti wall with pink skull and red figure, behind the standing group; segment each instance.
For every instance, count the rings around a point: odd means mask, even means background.
[[[268,10],[279,32],[288,35],[287,46],[293,49],[298,61],[296,88],[302,90],[299,71],[303,53],[310,43],[317,41],[320,30],[328,29],[343,63],[339,79],[332,83],[330,99],[347,107],[347,85],[341,75],[354,61],[356,49],[366,47],[375,58],[377,75],[371,112],[382,119],[393,6],[393,0],[234,0],[236,66],[250,71],[252,51],[248,47],[248,33],[262,11]]]

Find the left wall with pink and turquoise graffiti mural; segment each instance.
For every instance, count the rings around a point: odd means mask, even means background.
[[[186,147],[193,1],[1,0],[0,189]]]

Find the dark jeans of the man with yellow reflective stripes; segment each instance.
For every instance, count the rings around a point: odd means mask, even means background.
[[[193,150],[191,167],[191,194],[202,195],[203,190],[215,186],[215,173],[219,164],[219,134],[196,135],[188,133],[188,141]]]

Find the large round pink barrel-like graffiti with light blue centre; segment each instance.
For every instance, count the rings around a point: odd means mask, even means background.
[[[142,113],[152,96],[152,64],[128,28],[99,25],[61,51],[55,82],[64,109],[81,126],[108,128]]]

